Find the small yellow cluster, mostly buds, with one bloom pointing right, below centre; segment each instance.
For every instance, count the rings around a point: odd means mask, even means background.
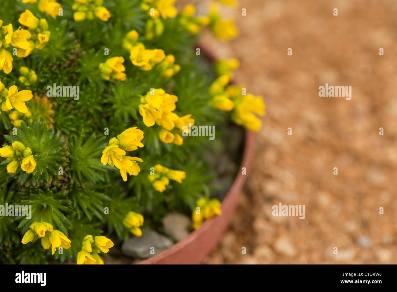
[[[166,186],[170,184],[170,180],[182,183],[182,180],[186,178],[186,172],[181,170],[173,170],[166,168],[160,164],[154,166],[154,174],[149,174],[148,180],[152,184],[156,191],[161,193],[166,189]]]

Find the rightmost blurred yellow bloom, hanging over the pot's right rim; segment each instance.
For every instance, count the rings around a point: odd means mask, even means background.
[[[265,105],[262,98],[254,97],[252,94],[241,95],[241,97],[235,99],[235,104],[235,109],[231,115],[233,122],[249,130],[258,131],[261,122],[254,113],[260,116],[265,114]]]

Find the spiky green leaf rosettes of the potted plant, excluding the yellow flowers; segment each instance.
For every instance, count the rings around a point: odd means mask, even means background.
[[[16,84],[19,90],[31,90],[39,98],[45,97],[47,87],[54,83],[80,88],[78,100],[49,97],[53,115],[43,112],[38,103],[26,102],[33,122],[25,121],[21,126],[13,126],[8,112],[0,114],[2,146],[19,141],[31,148],[37,163],[31,174],[21,168],[8,174],[8,161],[0,158],[0,205],[8,202],[32,207],[31,219],[0,216],[0,263],[75,261],[87,234],[115,232],[120,239],[132,236],[123,226],[129,211],[144,215],[143,228],[156,228],[170,211],[189,215],[196,199],[208,195],[208,184],[214,179],[212,166],[203,161],[204,153],[212,147],[208,137],[185,137],[181,146],[165,144],[158,137],[161,127],[145,126],[138,110],[142,95],[150,88],[162,88],[177,95],[174,112],[179,116],[191,114],[196,124],[203,125],[216,125],[225,118],[208,105],[207,90],[214,79],[210,64],[203,56],[196,56],[196,38],[178,25],[178,16],[162,19],[164,33],[146,41],[149,16],[141,10],[141,0],[104,1],[111,13],[108,21],[95,18],[79,22],[73,20],[72,0],[58,2],[64,15],[56,18],[38,10],[37,3],[3,0],[0,5],[3,25],[11,22],[18,27],[19,15],[29,9],[48,21],[51,32],[42,50],[34,50],[26,58],[14,56],[12,72],[0,71],[6,88]],[[181,71],[166,79],[156,68],[143,71],[131,64],[129,52],[121,44],[132,29],[137,30],[146,48],[173,54]],[[106,48],[109,56],[104,54]],[[106,81],[98,70],[100,63],[115,56],[125,60],[125,81]],[[35,70],[36,83],[26,87],[17,82],[21,66]],[[47,127],[50,116],[53,126]],[[100,158],[110,138],[135,126],[144,131],[145,146],[127,155],[143,159],[139,162],[141,172],[123,182],[119,170],[102,165]],[[150,168],[156,164],[183,170],[186,179],[182,184],[171,182],[160,193],[148,181]],[[21,244],[30,224],[39,221],[50,222],[64,232],[71,248],[51,255],[40,240]]]

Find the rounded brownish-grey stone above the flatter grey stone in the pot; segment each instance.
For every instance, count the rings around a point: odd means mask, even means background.
[[[162,219],[164,230],[176,241],[189,235],[190,218],[180,213],[169,213]]]

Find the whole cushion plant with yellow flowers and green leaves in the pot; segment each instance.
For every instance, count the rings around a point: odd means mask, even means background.
[[[26,205],[31,216],[0,220],[0,263],[103,264],[101,252],[165,233],[162,218],[190,217],[200,198],[193,228],[221,215],[210,199],[218,166],[231,127],[242,132],[229,120],[258,130],[264,104],[231,85],[237,60],[211,68],[197,54],[206,26],[227,38],[233,23],[175,7],[2,1],[0,205]],[[192,127],[214,127],[216,139]]]

